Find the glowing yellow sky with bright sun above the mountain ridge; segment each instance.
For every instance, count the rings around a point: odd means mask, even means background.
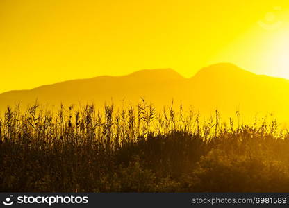
[[[289,78],[286,1],[0,1],[0,92],[216,62]],[[272,27],[273,26],[273,27]]]

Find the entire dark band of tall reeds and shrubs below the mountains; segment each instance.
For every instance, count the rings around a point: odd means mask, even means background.
[[[182,106],[8,107],[0,191],[289,191],[289,137],[276,120],[206,121]]]

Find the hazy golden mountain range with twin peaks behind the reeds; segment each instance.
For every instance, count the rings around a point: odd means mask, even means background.
[[[71,104],[104,103],[136,104],[141,97],[154,106],[176,105],[194,107],[201,114],[219,110],[224,116],[236,110],[248,115],[274,114],[289,118],[289,80],[256,75],[234,64],[221,63],[204,67],[195,76],[184,78],[172,69],[152,69],[127,76],[98,76],[83,80],[69,80],[30,90],[0,94],[0,110],[16,103],[23,108],[39,103],[59,107]]]

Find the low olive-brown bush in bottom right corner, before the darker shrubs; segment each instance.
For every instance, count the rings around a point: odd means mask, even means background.
[[[228,155],[211,150],[186,177],[190,191],[288,192],[288,166],[270,157]]]

